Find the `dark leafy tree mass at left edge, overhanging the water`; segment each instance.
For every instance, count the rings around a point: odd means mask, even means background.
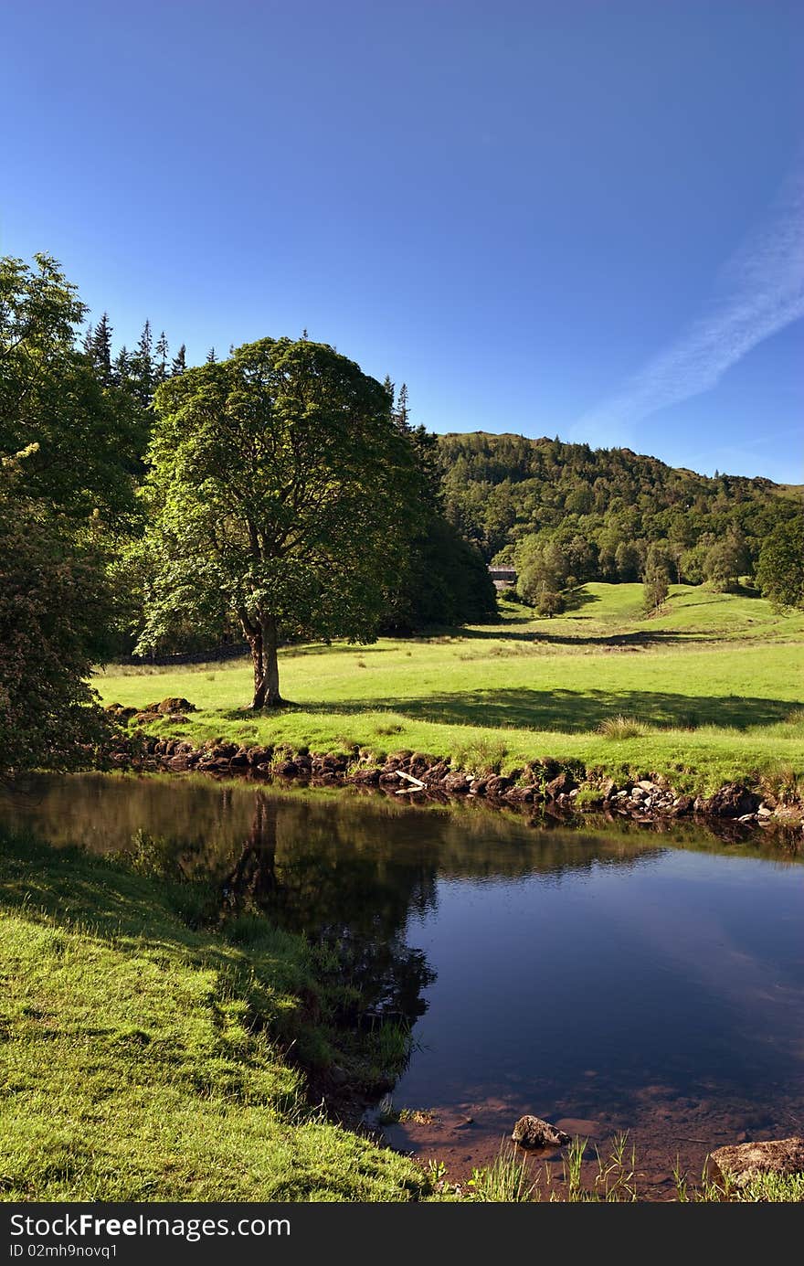
[[[110,328],[54,260],[0,260],[0,774],[87,760],[86,685],[109,649],[108,563],[135,511],[143,419],[110,381]]]

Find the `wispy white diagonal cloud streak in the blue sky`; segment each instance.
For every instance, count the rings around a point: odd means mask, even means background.
[[[752,347],[804,316],[804,172],[782,189],[767,220],[724,265],[704,311],[623,389],[572,428],[623,442],[648,414],[708,391]]]

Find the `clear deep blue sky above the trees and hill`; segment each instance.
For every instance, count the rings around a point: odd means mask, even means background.
[[[0,253],[115,341],[804,481],[800,0],[30,0],[0,54]]]

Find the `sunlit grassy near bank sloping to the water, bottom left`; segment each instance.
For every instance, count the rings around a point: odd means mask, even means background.
[[[163,884],[8,837],[0,890],[1,1199],[422,1193],[406,1158],[305,1104],[282,1055],[317,989],[301,938],[191,931]]]

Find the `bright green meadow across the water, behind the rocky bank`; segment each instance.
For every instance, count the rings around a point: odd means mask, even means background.
[[[276,714],[244,710],[246,660],[113,668],[95,685],[105,703],[186,696],[200,711],[167,732],[192,741],[410,748],[503,772],[552,756],[613,775],[665,774],[701,791],[804,771],[804,614],[684,585],[652,618],[642,614],[641,585],[586,585],[555,619],[501,605],[498,625],[287,648],[282,693],[292,704]],[[618,715],[641,732],[600,733]]]

